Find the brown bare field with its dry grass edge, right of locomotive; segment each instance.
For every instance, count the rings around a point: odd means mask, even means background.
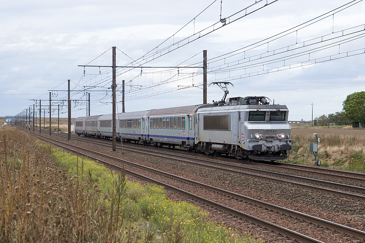
[[[317,133],[320,138],[318,153],[322,166],[365,171],[365,130],[348,126],[292,128],[293,149],[284,162],[314,165],[314,155],[309,152],[309,143],[314,142],[313,133]]]

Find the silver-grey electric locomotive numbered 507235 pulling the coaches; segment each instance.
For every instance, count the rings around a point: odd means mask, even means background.
[[[195,150],[253,160],[284,160],[292,149],[289,110],[266,97],[235,97],[196,112]]]

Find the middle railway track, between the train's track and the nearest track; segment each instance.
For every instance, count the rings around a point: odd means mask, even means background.
[[[56,134],[58,134],[58,133],[56,133]],[[61,136],[64,136],[64,135],[62,134]],[[111,144],[109,142],[105,142],[102,140],[95,141],[92,139],[90,140],[90,139],[80,138],[78,136],[73,137],[73,139],[78,140],[78,141],[83,141],[83,142],[85,142],[85,140],[87,140],[87,142],[90,144],[111,147]],[[311,179],[311,178],[307,178],[307,177],[288,175],[288,174],[284,174],[284,173],[264,171],[261,169],[249,168],[249,167],[232,165],[232,164],[224,164],[221,162],[179,156],[176,154],[155,152],[155,151],[141,149],[141,148],[128,147],[128,146],[124,146],[124,145],[123,146],[117,145],[117,148],[124,149],[124,150],[130,151],[130,152],[145,154],[148,156],[165,158],[165,159],[173,160],[176,162],[183,162],[183,163],[188,163],[188,164],[192,164],[192,165],[196,165],[196,166],[203,166],[205,168],[224,171],[227,173],[234,173],[234,174],[238,174],[238,175],[242,175],[242,176],[248,176],[248,177],[252,177],[255,179],[270,181],[273,183],[285,184],[285,185],[290,185],[293,187],[327,193],[330,195],[336,195],[336,196],[341,196],[341,197],[350,198],[350,199],[354,199],[354,200],[365,201],[365,188],[363,188],[363,187],[355,187],[352,185],[334,183],[334,182],[330,182],[330,181],[316,180],[316,179]],[[347,178],[347,176],[345,176],[345,178]],[[361,181],[362,179],[359,179],[359,180]],[[307,184],[304,184],[303,182],[307,183]]]

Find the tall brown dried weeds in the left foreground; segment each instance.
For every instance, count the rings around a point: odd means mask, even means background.
[[[2,130],[0,169],[1,242],[118,242],[128,220],[119,202],[124,174],[116,176],[111,195],[88,178],[59,171],[51,147],[41,148],[24,133]],[[129,233],[129,232],[128,232]]]

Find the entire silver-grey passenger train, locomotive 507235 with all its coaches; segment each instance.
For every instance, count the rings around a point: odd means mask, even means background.
[[[256,161],[284,160],[292,149],[289,110],[264,96],[116,114],[116,139]],[[78,117],[75,133],[112,138],[112,114]]]

